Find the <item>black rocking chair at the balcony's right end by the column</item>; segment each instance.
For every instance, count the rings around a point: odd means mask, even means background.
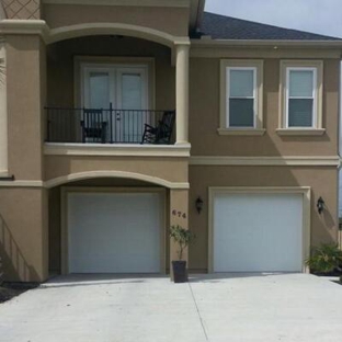
[[[163,113],[156,127],[145,124],[141,144],[170,145],[174,118],[175,112],[168,111]]]

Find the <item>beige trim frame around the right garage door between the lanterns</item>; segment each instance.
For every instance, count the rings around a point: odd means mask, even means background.
[[[301,194],[303,195],[303,272],[308,273],[305,260],[310,255],[311,187],[209,186],[208,189],[208,272],[214,272],[214,198],[217,194]]]

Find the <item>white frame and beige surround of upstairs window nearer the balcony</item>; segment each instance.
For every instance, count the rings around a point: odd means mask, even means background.
[[[254,116],[251,127],[229,126],[230,70],[253,70]],[[251,98],[241,98],[251,99]],[[221,59],[220,60],[220,117],[219,135],[263,135],[263,60],[261,59]]]

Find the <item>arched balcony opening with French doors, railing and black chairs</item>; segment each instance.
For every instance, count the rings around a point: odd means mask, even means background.
[[[174,142],[170,37],[102,26],[58,30],[46,47],[47,142]]]

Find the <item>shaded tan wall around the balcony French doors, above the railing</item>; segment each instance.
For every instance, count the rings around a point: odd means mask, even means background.
[[[47,47],[48,105],[76,105],[75,82],[79,83],[79,80],[75,79],[75,56],[153,58],[156,76],[151,82],[156,89],[156,110],[174,110],[175,69],[171,66],[171,50],[144,39],[111,36],[69,39]]]

